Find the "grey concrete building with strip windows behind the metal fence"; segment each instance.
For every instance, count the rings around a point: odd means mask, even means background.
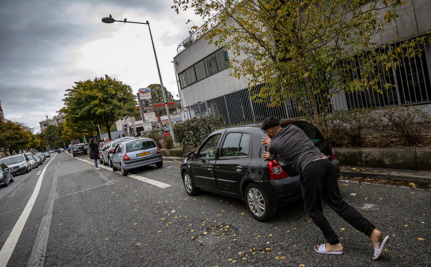
[[[377,48],[386,41],[397,40],[398,44],[431,29],[431,1],[409,0],[399,11],[396,22],[382,26],[377,20],[373,29],[373,42]],[[186,42],[190,41],[186,39]],[[397,45],[397,43],[395,43]],[[179,48],[181,48],[180,44]],[[245,78],[236,79],[229,75],[228,53],[200,38],[179,51],[174,58],[175,70],[181,86],[180,95],[186,118],[222,116],[226,126],[246,125],[262,122],[269,116],[281,119],[303,117],[297,104],[287,99],[279,107],[268,107],[266,103],[254,103],[250,96],[262,85],[248,88]],[[395,88],[383,94],[374,90],[354,93],[342,91],[332,97],[336,110],[351,108],[384,107],[387,105],[423,105],[431,103],[431,46],[425,46],[422,57],[404,59],[403,67],[385,73],[388,83]],[[355,73],[353,73],[355,75]]]

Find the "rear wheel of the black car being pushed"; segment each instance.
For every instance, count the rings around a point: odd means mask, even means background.
[[[276,209],[271,204],[265,191],[256,183],[251,183],[245,189],[245,201],[247,208],[258,221],[269,221],[276,214]]]

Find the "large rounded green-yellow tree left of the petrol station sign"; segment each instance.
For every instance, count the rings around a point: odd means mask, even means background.
[[[65,107],[59,112],[66,114],[69,126],[79,125],[80,130],[85,127],[89,135],[99,124],[111,138],[110,129],[114,122],[136,112],[137,102],[132,88],[106,74],[94,80],[75,82],[75,86],[66,92],[63,99]]]

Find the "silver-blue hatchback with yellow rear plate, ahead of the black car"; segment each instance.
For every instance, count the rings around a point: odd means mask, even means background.
[[[157,168],[163,166],[160,148],[150,138],[119,142],[111,155],[112,170],[120,169],[123,176],[128,175],[131,169],[149,164],[155,164]]]

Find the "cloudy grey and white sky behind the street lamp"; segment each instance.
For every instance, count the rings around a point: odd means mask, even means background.
[[[193,13],[171,9],[172,0],[0,0],[0,101],[4,117],[40,132],[58,115],[75,81],[108,74],[138,89],[160,83],[148,27],[115,22],[149,21],[163,85],[178,99],[172,65],[188,36]]]

